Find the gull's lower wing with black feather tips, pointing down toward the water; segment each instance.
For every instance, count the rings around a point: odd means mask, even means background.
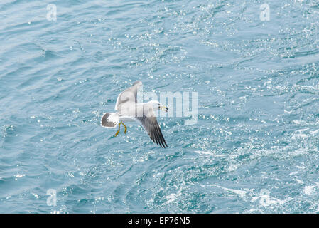
[[[156,144],[160,147],[167,147],[161,128],[159,127],[156,116],[153,112],[153,108],[148,109],[147,116],[143,113],[141,117],[136,117],[136,119],[141,122],[153,142],[156,142]]]

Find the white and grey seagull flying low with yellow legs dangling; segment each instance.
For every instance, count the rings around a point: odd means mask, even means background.
[[[137,90],[142,86],[141,81],[136,81],[133,86],[126,88],[117,97],[115,104],[116,113],[104,113],[101,119],[101,125],[104,128],[119,129],[115,136],[119,134],[120,126],[124,125],[126,134],[126,125],[123,121],[136,121],[143,125],[151,140],[160,147],[167,147],[166,141],[158,125],[154,110],[163,110],[167,113],[168,108],[157,100],[150,100],[147,103],[137,103]]]

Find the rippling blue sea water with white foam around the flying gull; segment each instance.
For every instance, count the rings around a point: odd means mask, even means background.
[[[319,212],[318,1],[2,0],[0,21],[1,213]],[[198,93],[195,125],[158,118],[166,149],[100,126],[138,80]]]

